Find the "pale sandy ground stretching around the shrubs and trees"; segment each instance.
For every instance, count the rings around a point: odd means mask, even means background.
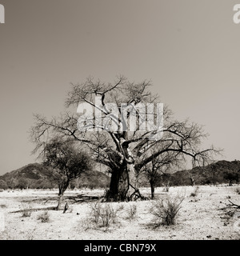
[[[82,196],[102,195],[103,190],[68,190],[65,202],[69,209],[50,210],[57,205],[58,191],[47,190],[6,190],[0,192],[0,239],[14,240],[215,240],[240,239],[240,209],[223,209],[229,200],[240,205],[237,186],[199,186],[196,197],[190,196],[194,187],[170,187],[169,192],[157,188],[156,198],[184,197],[174,226],[154,226],[150,214],[152,201],[110,202],[118,212],[118,219],[109,227],[96,226],[90,221],[90,200]],[[150,195],[149,189],[142,189]],[[89,198],[88,198],[89,199]],[[62,207],[65,203],[62,204]],[[136,218],[127,218],[130,205],[137,207]],[[30,210],[29,217],[23,217],[23,210]],[[233,211],[234,210],[234,211]],[[39,216],[48,212],[49,221],[42,222]]]

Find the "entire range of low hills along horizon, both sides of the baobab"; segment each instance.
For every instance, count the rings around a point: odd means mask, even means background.
[[[204,167],[194,167],[191,170],[179,170],[170,175],[162,175],[156,186],[191,186],[205,184],[221,184],[238,182],[240,176],[240,161],[218,161]],[[70,188],[80,187],[107,188],[110,177],[98,170],[82,174],[80,178],[70,182]],[[147,178],[142,177],[142,186],[149,186]],[[51,171],[39,163],[31,163],[18,170],[0,176],[0,189],[51,189],[58,184],[52,178]]]

